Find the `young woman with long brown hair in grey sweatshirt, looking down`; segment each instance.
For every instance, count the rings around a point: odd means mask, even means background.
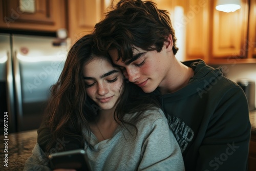
[[[24,170],[49,170],[46,156],[74,148],[86,150],[91,170],[184,170],[180,147],[155,100],[97,53],[91,34],[71,48],[39,138],[45,145],[35,145]]]

